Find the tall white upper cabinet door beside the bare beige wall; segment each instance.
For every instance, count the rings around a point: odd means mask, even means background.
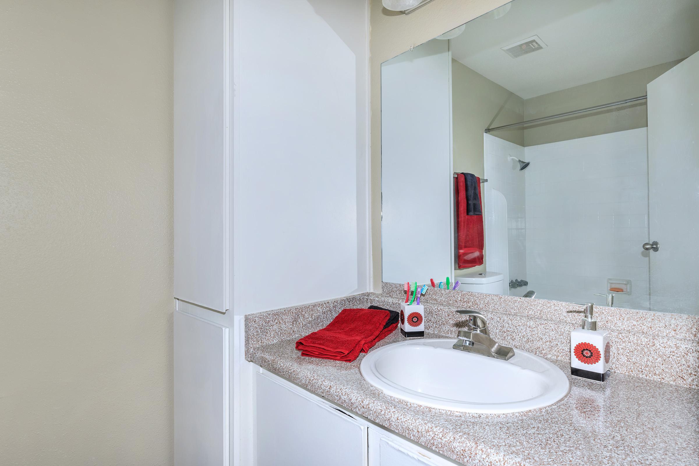
[[[174,2],[175,298],[229,305],[226,1]]]

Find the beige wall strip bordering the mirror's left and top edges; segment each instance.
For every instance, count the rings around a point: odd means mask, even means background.
[[[373,289],[381,288],[381,64],[449,29],[507,3],[504,0],[438,0],[410,15],[370,0],[371,251]]]

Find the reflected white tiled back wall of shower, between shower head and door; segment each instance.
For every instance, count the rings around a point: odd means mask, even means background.
[[[526,270],[537,298],[649,308],[647,129],[526,147]]]

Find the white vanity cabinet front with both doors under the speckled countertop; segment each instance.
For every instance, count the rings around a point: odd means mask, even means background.
[[[454,466],[270,372],[255,376],[257,466]]]

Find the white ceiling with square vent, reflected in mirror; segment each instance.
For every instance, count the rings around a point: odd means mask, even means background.
[[[537,35],[547,48],[500,48]],[[684,59],[699,50],[698,0],[515,0],[452,39],[452,57],[523,99]]]

